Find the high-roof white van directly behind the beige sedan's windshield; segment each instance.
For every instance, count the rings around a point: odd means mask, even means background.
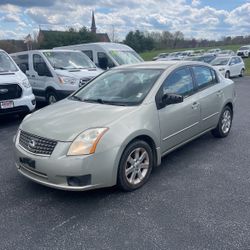
[[[123,64],[143,62],[143,59],[133,49],[120,43],[85,43],[54,49],[81,50],[103,70]]]

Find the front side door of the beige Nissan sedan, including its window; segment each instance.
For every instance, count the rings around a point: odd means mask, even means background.
[[[164,153],[199,133],[200,104],[188,67],[171,73],[159,91],[162,95],[174,93],[184,96],[182,103],[167,105],[158,111],[161,149]]]

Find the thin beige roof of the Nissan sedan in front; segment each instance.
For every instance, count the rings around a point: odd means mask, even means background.
[[[133,69],[133,68],[141,68],[141,69],[168,69],[168,68],[177,68],[181,66],[192,66],[192,65],[201,65],[201,66],[209,66],[207,63],[197,62],[197,61],[150,61],[150,62],[141,62],[137,64],[128,64],[115,67],[116,69]]]

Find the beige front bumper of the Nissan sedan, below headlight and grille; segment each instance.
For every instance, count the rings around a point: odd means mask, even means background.
[[[67,156],[69,146],[70,142],[58,142],[52,155],[45,157],[26,151],[16,142],[16,167],[25,177],[62,190],[83,191],[116,184],[118,148],[86,156]],[[22,159],[35,162],[35,167],[24,164]],[[83,182],[72,185],[72,178],[80,178]]]

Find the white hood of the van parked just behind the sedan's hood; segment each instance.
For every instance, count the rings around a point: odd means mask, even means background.
[[[57,74],[62,76],[68,76],[68,77],[74,77],[76,79],[81,78],[93,78],[95,76],[98,76],[103,71],[99,68],[89,68],[89,69],[79,69],[79,70],[55,70]]]

